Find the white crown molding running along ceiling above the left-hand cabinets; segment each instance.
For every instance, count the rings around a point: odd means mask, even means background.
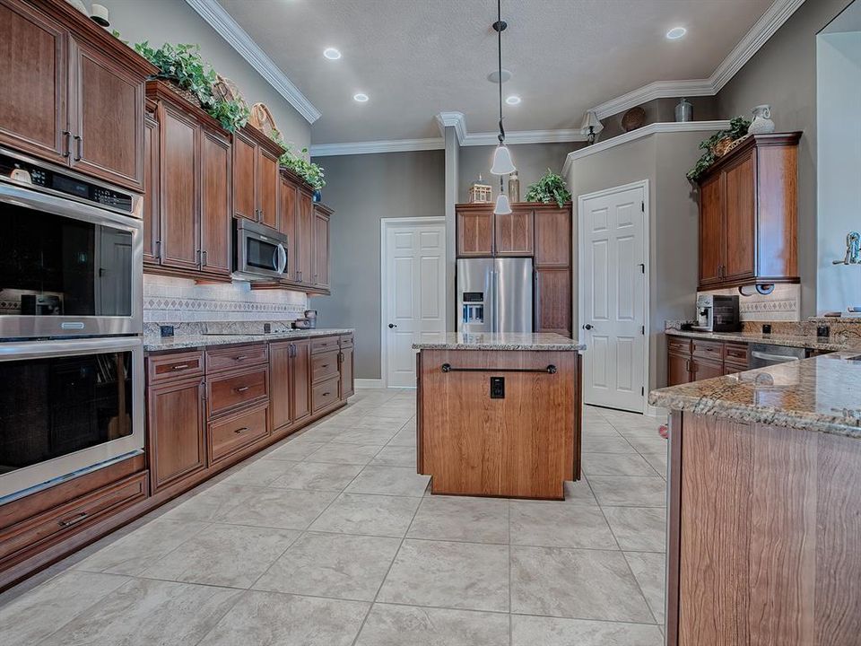
[[[309,124],[320,118],[320,111],[314,107],[308,98],[300,92],[287,75],[272,58],[266,56],[263,49],[248,36],[248,32],[233,20],[230,13],[218,3],[217,0],[186,0],[187,4],[194,9],[204,21],[208,22],[213,30],[225,39],[230,47],[234,48],[239,56],[245,58],[248,65],[254,67],[257,73],[263,76],[266,83],[274,87],[275,92],[283,96],[288,103],[295,108]]]

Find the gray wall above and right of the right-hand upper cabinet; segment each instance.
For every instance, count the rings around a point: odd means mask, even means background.
[[[779,131],[802,130],[798,149],[798,270],[804,316],[816,312],[816,34],[847,0],[806,2],[718,93],[723,118],[769,103]]]

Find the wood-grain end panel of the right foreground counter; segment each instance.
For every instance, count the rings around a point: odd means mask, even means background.
[[[861,443],[674,415],[668,644],[850,646]]]

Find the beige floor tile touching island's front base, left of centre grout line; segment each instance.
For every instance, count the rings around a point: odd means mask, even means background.
[[[406,535],[410,538],[508,544],[509,501],[425,496]]]

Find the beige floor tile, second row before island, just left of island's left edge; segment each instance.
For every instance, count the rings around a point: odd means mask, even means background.
[[[399,538],[307,533],[254,589],[373,601],[400,544]]]

